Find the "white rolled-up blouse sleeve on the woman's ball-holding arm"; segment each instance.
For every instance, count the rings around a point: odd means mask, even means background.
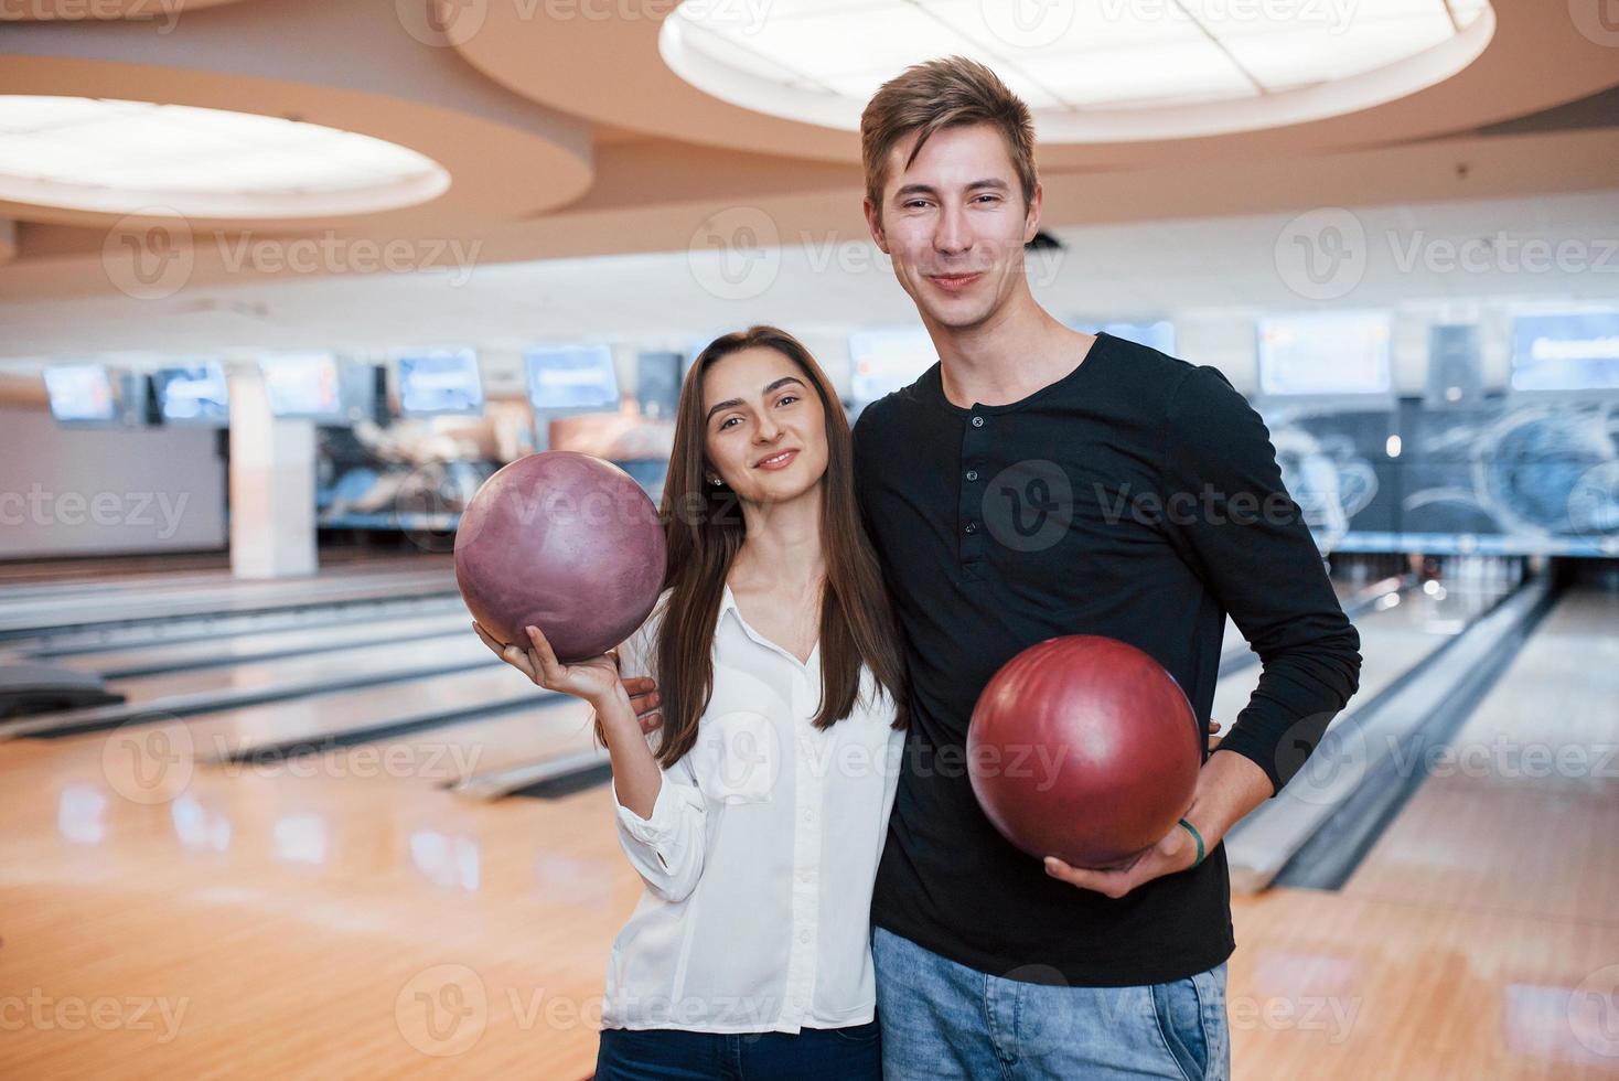
[[[625,678],[651,675],[651,644],[656,615],[618,647],[618,670]],[[656,754],[657,736],[648,738]],[[648,888],[665,901],[682,901],[696,888],[703,874],[708,804],[691,772],[690,754],[662,770],[652,814],[643,819],[618,799],[612,786],[618,824],[618,845]]]

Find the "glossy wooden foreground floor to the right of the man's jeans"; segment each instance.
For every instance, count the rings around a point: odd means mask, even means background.
[[[1611,924],[1292,888],[1237,897],[1232,918],[1235,1078],[1619,1076],[1611,1029],[1569,1015],[1591,958],[1619,947]]]

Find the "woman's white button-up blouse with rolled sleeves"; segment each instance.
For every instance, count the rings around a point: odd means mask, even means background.
[[[620,647],[625,676],[652,673],[667,599]],[[646,892],[612,947],[604,1028],[797,1032],[874,1016],[871,887],[903,733],[868,668],[826,731],[811,723],[819,699],[821,646],[800,662],[725,586],[696,744],[664,770],[651,819],[614,788]]]

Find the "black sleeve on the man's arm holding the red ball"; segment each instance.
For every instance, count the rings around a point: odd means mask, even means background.
[[[1360,685],[1360,636],[1344,615],[1264,421],[1219,369],[1193,369],[1169,403],[1166,498],[1182,550],[1260,655],[1260,685],[1221,740],[1273,796],[1298,772]]]

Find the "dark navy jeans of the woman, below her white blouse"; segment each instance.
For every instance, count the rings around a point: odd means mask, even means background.
[[[881,1081],[876,1021],[792,1032],[602,1029],[596,1081]]]

